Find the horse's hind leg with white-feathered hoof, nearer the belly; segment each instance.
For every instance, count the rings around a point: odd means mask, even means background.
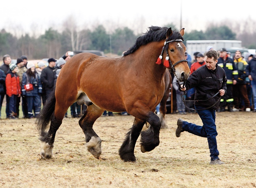
[[[96,107],[94,104],[87,107],[82,118],[79,120],[79,125],[85,134],[85,146],[88,151],[97,159],[101,155],[101,139],[93,130],[93,124],[98,119],[104,110]]]

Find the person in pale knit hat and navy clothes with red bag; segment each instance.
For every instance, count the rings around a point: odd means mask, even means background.
[[[32,62],[27,64],[28,70],[22,76],[22,95],[26,96],[28,103],[28,118],[37,117],[41,110],[42,84],[38,73],[35,71],[35,65]],[[25,85],[32,84],[33,89],[26,91]],[[33,115],[34,111],[34,115]]]

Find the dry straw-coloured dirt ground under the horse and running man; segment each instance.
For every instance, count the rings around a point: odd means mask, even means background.
[[[160,145],[123,162],[118,150],[131,128],[132,116],[100,117],[94,130],[102,140],[96,159],[85,148],[77,118],[65,118],[53,157],[39,160],[34,119],[0,120],[0,187],[256,187],[256,113],[217,112],[217,142],[224,165],[209,165],[207,139],[188,132],[175,137],[177,119],[201,125],[197,114],[167,114],[168,129]]]

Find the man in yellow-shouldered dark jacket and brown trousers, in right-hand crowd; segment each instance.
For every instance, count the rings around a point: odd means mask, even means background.
[[[233,111],[239,111],[239,109],[243,109],[240,98],[243,99],[244,105],[245,105],[245,111],[249,112],[251,111],[250,108],[250,101],[247,95],[247,89],[246,89],[246,77],[248,76],[246,74],[246,67],[248,66],[248,63],[243,60],[242,52],[239,50],[236,50],[235,52],[235,59],[234,63],[236,65],[236,68],[238,69],[238,81],[235,85],[233,85],[233,97],[234,97],[234,109]],[[243,110],[241,110],[243,111]]]

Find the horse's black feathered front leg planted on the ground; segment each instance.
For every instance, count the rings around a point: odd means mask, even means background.
[[[145,123],[146,121],[138,118],[134,119],[133,127],[126,133],[125,140],[119,149],[119,155],[123,161],[136,161],[134,147]]]

